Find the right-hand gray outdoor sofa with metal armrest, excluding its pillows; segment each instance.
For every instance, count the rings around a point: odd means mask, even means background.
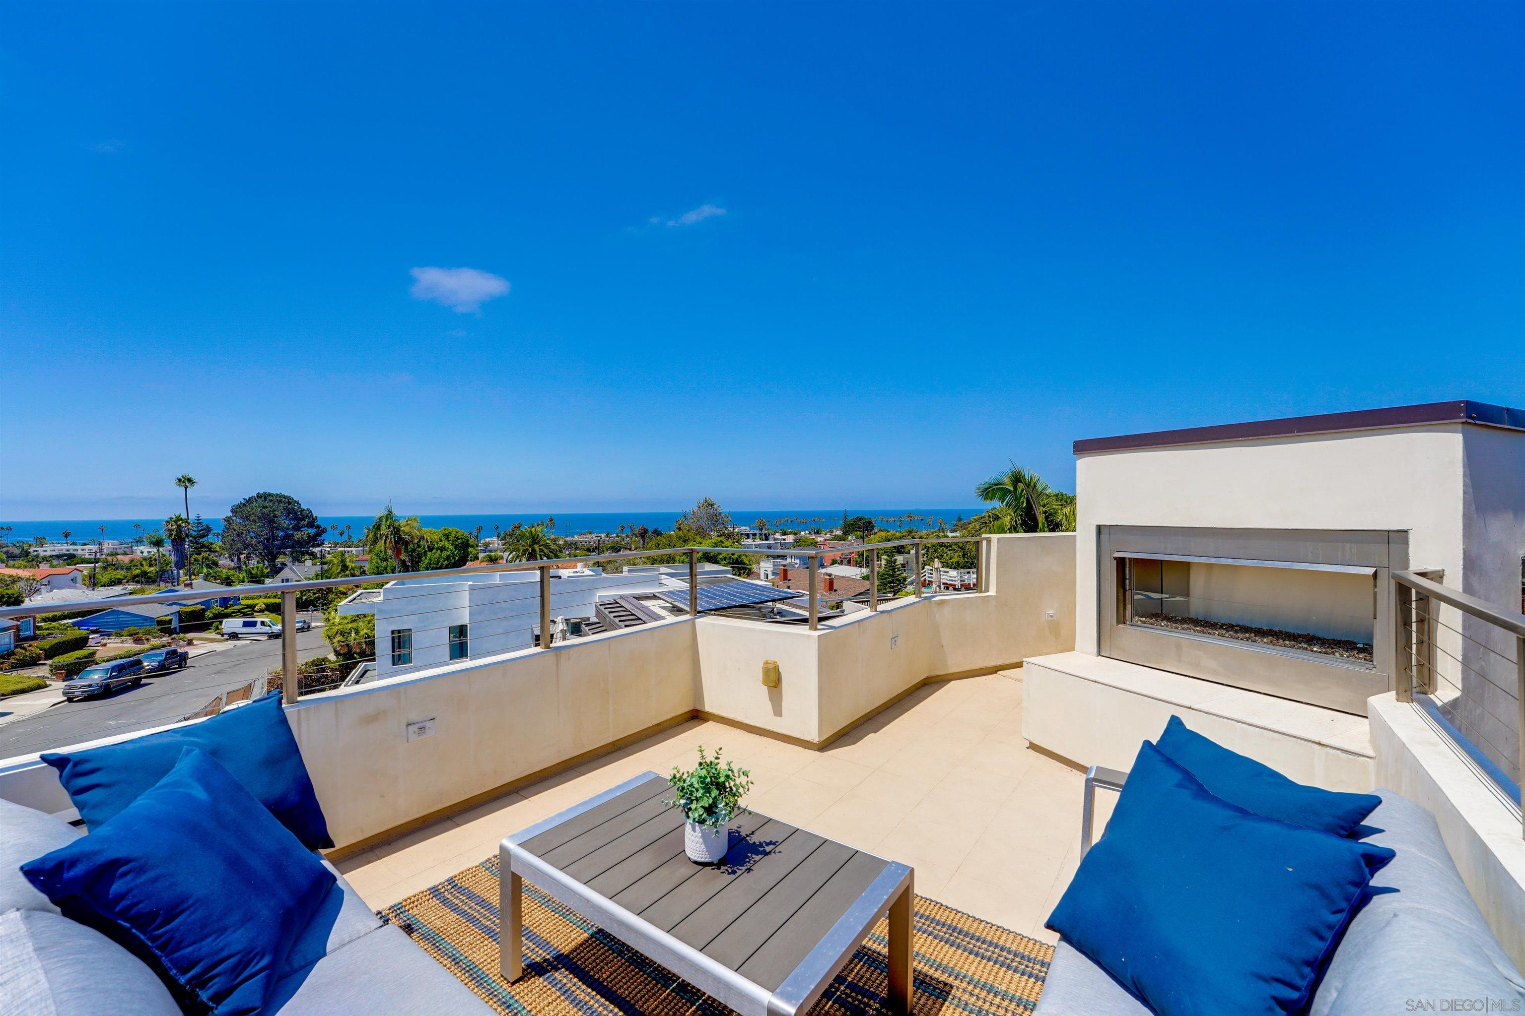
[[[1100,768],[1086,777],[1083,845],[1089,847],[1095,789],[1118,789],[1124,778],[1122,772]],[[1382,804],[1365,824],[1382,832],[1365,839],[1397,856],[1372,877],[1372,897],[1345,931],[1308,1016],[1525,1011],[1525,979],[1482,920],[1435,818],[1392,791],[1376,794]],[[1458,1008],[1458,999],[1481,1004]],[[1060,940],[1034,1016],[1148,1013],[1101,967]]]

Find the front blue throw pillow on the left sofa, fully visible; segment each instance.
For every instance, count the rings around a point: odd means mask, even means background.
[[[189,748],[119,815],[21,874],[152,966],[189,1011],[217,1016],[264,1008],[334,887],[242,783]]]

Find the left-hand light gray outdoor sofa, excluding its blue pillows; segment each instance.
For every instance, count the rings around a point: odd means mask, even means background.
[[[0,800],[0,1011],[6,1016],[178,1016],[169,992],[131,954],[58,912],[17,870],[84,832]],[[186,858],[186,864],[195,864]],[[323,862],[328,865],[328,862]],[[328,865],[332,871],[332,865]],[[267,1011],[281,1016],[482,1016],[461,981],[383,925],[337,871]],[[209,893],[218,891],[215,885]]]

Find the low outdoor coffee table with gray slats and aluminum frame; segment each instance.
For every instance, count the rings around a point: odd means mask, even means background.
[[[912,870],[766,815],[720,865],[683,853],[683,815],[645,772],[508,836],[500,966],[523,973],[523,879],[743,1016],[793,1016],[889,914],[889,1007],[910,1011]]]

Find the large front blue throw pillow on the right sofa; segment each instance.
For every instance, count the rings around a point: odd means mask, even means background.
[[[1048,928],[1161,1016],[1301,1013],[1392,856],[1222,801],[1144,742]]]

